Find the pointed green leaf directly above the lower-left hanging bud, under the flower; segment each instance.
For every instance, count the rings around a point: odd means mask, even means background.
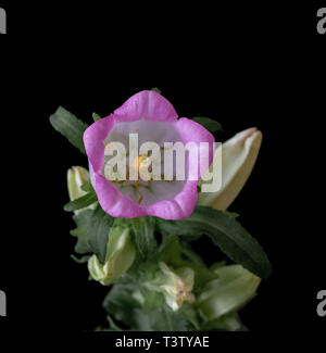
[[[89,219],[87,232],[88,244],[102,264],[105,262],[109,232],[113,220],[114,218],[105,213],[100,204],[98,204]]]

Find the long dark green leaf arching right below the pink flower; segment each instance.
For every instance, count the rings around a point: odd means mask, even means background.
[[[189,218],[158,218],[156,225],[161,232],[167,235],[203,234],[211,237],[231,260],[261,278],[268,277],[272,272],[269,261],[258,241],[234,217],[218,210],[198,206]]]

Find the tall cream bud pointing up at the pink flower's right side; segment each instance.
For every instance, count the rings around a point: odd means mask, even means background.
[[[252,172],[262,137],[253,127],[222,144],[222,187],[217,192],[201,192],[199,204],[225,211],[233,203]]]

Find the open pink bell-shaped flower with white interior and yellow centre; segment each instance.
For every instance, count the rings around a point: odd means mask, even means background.
[[[150,180],[138,182],[110,181],[104,176],[104,149],[110,141],[126,144],[130,133],[138,133],[139,146],[154,141],[180,141],[210,143],[209,164],[212,162],[213,136],[200,124],[186,117],[178,118],[173,105],[155,91],[141,91],[130,97],[110,116],[89,126],[84,134],[84,143],[89,160],[89,172],[99,203],[113,217],[141,217],[152,215],[165,219],[190,216],[197,199],[197,184],[203,173],[193,180]],[[186,165],[193,160],[186,155]],[[205,171],[203,171],[205,172]]]

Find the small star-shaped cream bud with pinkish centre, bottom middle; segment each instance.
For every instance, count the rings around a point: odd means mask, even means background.
[[[165,297],[166,304],[177,311],[185,301],[193,302],[195,297],[191,293],[193,288],[195,273],[189,267],[180,267],[175,270],[164,263],[159,263],[160,273],[158,274],[150,288],[161,291]]]

